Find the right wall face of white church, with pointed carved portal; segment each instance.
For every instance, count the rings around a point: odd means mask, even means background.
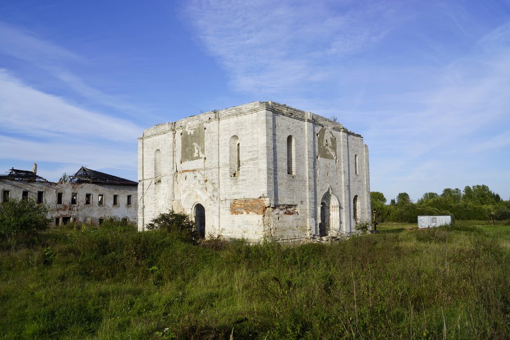
[[[321,199],[330,192],[340,203],[340,219],[330,235],[352,232],[352,199],[358,195],[360,220],[370,219],[368,149],[363,138],[339,123],[269,102],[268,176],[271,207],[264,225],[278,240],[317,236]],[[269,123],[270,122],[270,123]],[[288,174],[287,138],[294,139],[294,171]],[[354,158],[358,155],[358,173]]]

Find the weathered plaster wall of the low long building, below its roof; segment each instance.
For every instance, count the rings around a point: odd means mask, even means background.
[[[95,184],[58,184],[54,182],[31,182],[24,180],[0,180],[0,191],[9,190],[11,198],[21,199],[23,191],[37,199],[39,191],[44,192],[43,203],[49,206],[48,218],[55,224],[56,218],[74,218],[76,222],[98,223],[99,218],[127,218],[137,223],[137,188]],[[62,204],[57,204],[57,193],[62,193]],[[71,195],[77,194],[77,204],[71,204]],[[91,204],[85,204],[86,194],[91,194]],[[103,205],[98,205],[98,195],[102,194]],[[113,195],[118,195],[118,205],[113,204]],[[127,204],[127,195],[132,195],[132,204]],[[86,220],[89,219],[89,220]]]

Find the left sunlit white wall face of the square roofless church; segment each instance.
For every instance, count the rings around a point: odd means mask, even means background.
[[[201,204],[206,234],[261,238],[262,214],[250,210],[249,200],[258,204],[267,195],[264,119],[264,108],[252,103],[145,130],[139,138],[139,230],[170,209],[193,217],[196,204]],[[240,146],[237,176],[230,173],[233,136]],[[153,170],[157,149],[163,164],[159,184]],[[246,200],[246,209],[239,207],[239,200]],[[234,213],[232,204],[238,205]]]

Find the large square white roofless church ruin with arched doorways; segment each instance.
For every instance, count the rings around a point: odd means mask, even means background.
[[[342,124],[252,102],[146,129],[138,229],[184,212],[202,236],[301,241],[370,220],[368,148]]]

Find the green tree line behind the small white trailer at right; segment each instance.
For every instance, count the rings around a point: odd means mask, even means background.
[[[418,216],[451,215],[456,220],[508,220],[510,200],[502,200],[499,194],[486,185],[446,188],[441,194],[424,193],[415,203],[405,192],[387,203],[384,194],[370,193],[372,210],[377,212],[378,222],[415,223]]]

